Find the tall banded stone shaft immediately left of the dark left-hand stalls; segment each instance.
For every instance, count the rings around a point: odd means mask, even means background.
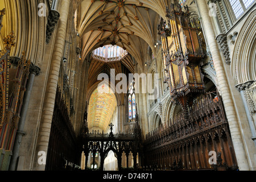
[[[65,44],[65,36],[67,32],[67,21],[69,15],[70,0],[61,1],[60,19],[57,28],[55,46],[53,49],[52,63],[49,71],[48,84],[45,94],[44,106],[42,111],[42,119],[40,122],[36,153],[34,159],[34,168],[36,171],[44,171],[45,164],[39,165],[38,152],[48,150],[49,135],[51,132],[52,115],[55,104],[57,81],[59,79],[60,63],[63,59],[63,49]],[[45,157],[46,157],[45,156]]]

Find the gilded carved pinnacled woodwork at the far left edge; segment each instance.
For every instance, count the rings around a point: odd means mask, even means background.
[[[4,14],[5,9],[0,11],[0,29]],[[6,159],[11,158],[13,152],[31,67],[25,52],[21,57],[15,57],[15,61],[10,59],[11,48],[16,44],[15,38],[14,32],[3,38],[5,48],[0,51],[0,148],[5,151],[3,158]],[[5,168],[6,164],[2,163],[2,169]]]

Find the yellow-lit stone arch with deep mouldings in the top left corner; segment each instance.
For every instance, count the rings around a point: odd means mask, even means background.
[[[31,60],[31,63],[38,67],[42,67],[42,61],[47,57],[45,56],[46,34],[41,33],[47,31],[47,18],[38,16],[38,9],[34,8],[38,7],[40,2],[42,1],[1,1],[1,8],[6,9],[6,16],[3,19],[5,27],[1,30],[1,34],[6,36],[14,31],[16,36],[16,45],[11,49],[10,56],[20,57],[24,51],[26,59]],[[46,13],[49,14],[48,9]]]

